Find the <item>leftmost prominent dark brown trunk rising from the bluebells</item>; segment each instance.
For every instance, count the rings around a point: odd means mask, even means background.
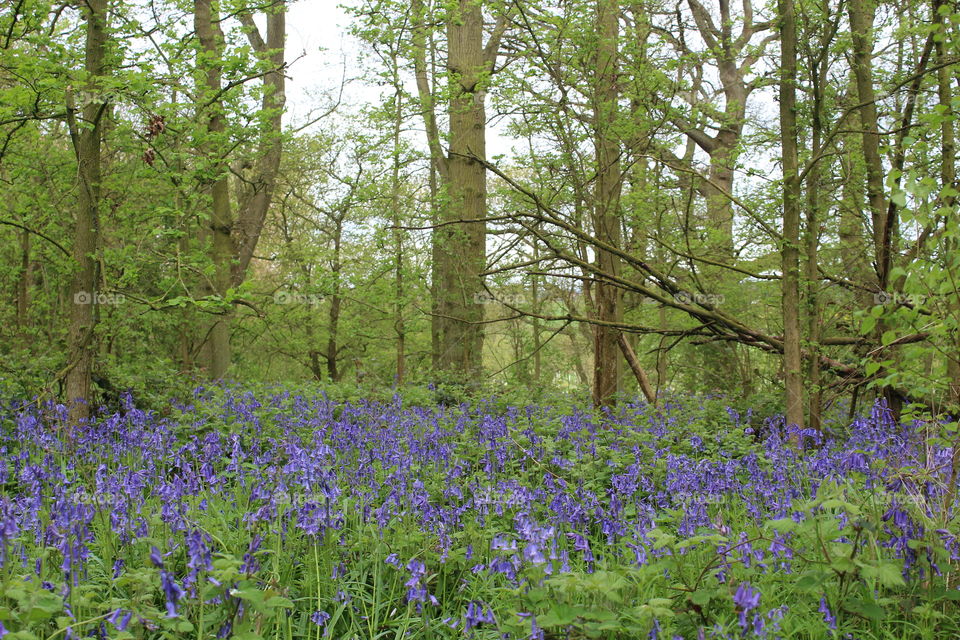
[[[106,74],[108,10],[107,0],[88,0],[83,5],[87,23],[84,71],[89,78],[88,99],[81,110],[83,127],[76,126],[71,116],[79,183],[73,237],[76,270],[70,284],[69,362],[65,379],[71,424],[90,415],[92,401],[91,377],[96,348],[93,333],[97,321],[99,281],[101,144],[107,111],[106,100],[100,97],[106,89],[100,83]]]

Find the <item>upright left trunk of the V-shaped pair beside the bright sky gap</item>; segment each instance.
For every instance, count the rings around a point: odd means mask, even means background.
[[[207,185],[211,197],[210,215],[207,219],[205,235],[210,241],[210,257],[214,264],[212,282],[208,293],[223,297],[233,283],[233,259],[237,254],[232,237],[233,212],[230,205],[230,187],[227,180],[225,161],[222,156],[223,140],[226,130],[223,100],[219,97],[222,89],[223,31],[220,19],[211,0],[194,0],[194,30],[200,41],[197,52],[197,68],[201,72],[203,96],[210,105],[207,111],[198,116],[204,122],[207,161],[211,163],[214,177]],[[203,99],[203,98],[201,98]],[[230,367],[230,319],[231,311],[224,309],[215,317],[207,334],[205,345],[207,375],[212,380],[221,380]]]

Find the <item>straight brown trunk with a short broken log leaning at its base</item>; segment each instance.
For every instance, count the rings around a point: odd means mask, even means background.
[[[619,247],[620,192],[623,174],[620,168],[620,145],[613,131],[617,117],[618,37],[620,32],[618,0],[597,0],[596,88],[594,90],[594,149],[597,180],[594,192],[593,223],[597,238]],[[607,251],[597,250],[598,267],[614,275],[620,273],[620,260]],[[622,319],[622,292],[618,287],[599,283],[594,294],[597,319],[619,322]],[[617,363],[620,331],[616,327],[597,324],[593,342],[593,403],[612,405],[619,391]]]

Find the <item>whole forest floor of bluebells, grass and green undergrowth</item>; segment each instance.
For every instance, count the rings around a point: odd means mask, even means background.
[[[2,410],[0,637],[960,633],[952,451],[881,407],[822,435],[694,397],[163,413]]]

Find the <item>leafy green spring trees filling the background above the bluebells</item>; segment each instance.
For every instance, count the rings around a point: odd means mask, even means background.
[[[293,121],[282,0],[4,4],[4,393],[960,404],[955,3],[346,6]]]

